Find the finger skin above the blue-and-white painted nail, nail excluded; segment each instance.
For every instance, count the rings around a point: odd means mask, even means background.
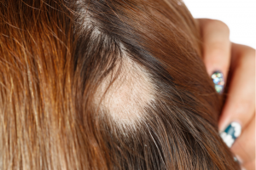
[[[253,48],[232,44],[234,67],[229,95],[220,116],[218,127],[220,132],[229,127],[231,122],[238,122],[241,129],[253,118],[255,107],[255,51]],[[232,65],[231,65],[232,67]],[[226,129],[227,130],[227,129]],[[225,131],[226,131],[225,130]]]

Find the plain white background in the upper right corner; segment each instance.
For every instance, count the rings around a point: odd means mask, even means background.
[[[256,48],[256,0],[183,0],[195,18],[222,20],[230,40]]]

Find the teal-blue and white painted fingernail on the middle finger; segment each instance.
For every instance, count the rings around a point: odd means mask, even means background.
[[[220,137],[224,140],[227,146],[231,147],[235,140],[241,134],[241,125],[238,122],[231,122],[224,132],[220,133]]]

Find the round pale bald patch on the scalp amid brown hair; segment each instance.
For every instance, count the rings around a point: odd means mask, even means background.
[[[154,100],[154,85],[143,66],[125,55],[96,91],[100,111],[119,125],[132,125],[143,118],[145,107]]]

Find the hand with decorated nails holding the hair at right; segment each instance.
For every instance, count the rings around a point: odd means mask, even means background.
[[[255,50],[231,43],[229,28],[221,21],[198,19],[197,22],[201,28],[203,60],[208,74],[212,76],[214,71],[220,71],[224,82],[229,84],[218,122],[219,131],[241,167],[254,170]]]

